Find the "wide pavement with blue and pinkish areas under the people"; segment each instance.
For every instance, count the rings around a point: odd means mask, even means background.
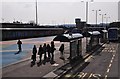
[[[49,72],[60,68],[61,66],[68,63],[68,57],[70,55],[69,50],[69,43],[65,44],[65,61],[61,60],[60,52],[58,51],[58,48],[60,46],[60,42],[55,42],[55,64],[51,64],[50,62],[47,62],[45,65],[42,64],[39,67],[37,64],[35,64],[33,67],[31,67],[31,49],[33,45],[35,44],[37,48],[40,44],[43,43],[50,43],[52,41],[53,37],[45,37],[45,38],[33,38],[33,39],[24,39],[21,40],[23,42],[22,47],[23,51],[19,54],[15,53],[17,50],[16,42],[17,40],[13,41],[3,41],[0,42],[2,44],[2,77],[3,78],[38,78],[43,77]],[[84,54],[85,55],[85,54]],[[13,61],[14,60],[14,61]],[[37,62],[38,62],[38,56],[37,56]],[[36,63],[37,63],[36,62]]]

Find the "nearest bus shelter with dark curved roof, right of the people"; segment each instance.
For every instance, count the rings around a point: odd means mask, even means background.
[[[57,35],[53,41],[60,41],[60,42],[68,42],[69,44],[69,51],[70,56],[69,59],[73,60],[76,57],[82,57],[82,38],[83,35],[80,33],[75,34],[63,34]]]

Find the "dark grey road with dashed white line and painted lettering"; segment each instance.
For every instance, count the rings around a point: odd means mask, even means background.
[[[77,79],[118,79],[118,43],[104,44],[97,52],[85,60],[86,65],[79,68],[74,74],[64,77]],[[72,72],[72,71],[71,71]]]

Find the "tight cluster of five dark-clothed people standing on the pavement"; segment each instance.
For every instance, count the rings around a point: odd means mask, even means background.
[[[32,51],[32,57],[31,59],[33,60],[32,62],[35,63],[36,61],[36,55],[39,55],[39,63],[42,62],[42,57],[44,56],[44,63],[46,61],[50,61],[50,62],[54,62],[54,51],[55,51],[55,45],[54,42],[51,42],[50,44],[46,44],[44,43],[44,45],[40,45],[39,49],[37,51],[37,47],[36,45],[34,45],[33,47],[33,51]]]

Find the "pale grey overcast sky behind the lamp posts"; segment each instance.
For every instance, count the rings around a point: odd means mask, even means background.
[[[118,20],[119,0],[37,0],[38,1],[38,24],[74,24],[75,18],[86,21],[86,1],[88,1],[88,23],[96,22],[98,12],[98,23]],[[35,0],[2,0],[0,2],[0,22],[30,22],[35,21]]]

